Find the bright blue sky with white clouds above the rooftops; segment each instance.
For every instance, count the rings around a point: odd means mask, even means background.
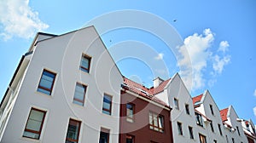
[[[0,98],[8,87],[21,55],[26,53],[37,31],[62,34],[77,30],[102,14],[131,9],[147,12],[168,22],[183,39],[184,46],[180,45],[179,54],[186,55],[182,50],[186,49],[190,56],[189,59],[186,56],[177,57],[162,39],[147,31],[136,28],[108,31],[102,35],[102,40],[113,52],[111,54],[115,60],[119,58],[119,53],[114,53],[113,49],[126,46],[123,50],[131,51],[131,47],[125,45],[127,42],[134,46],[133,49],[143,47],[152,50],[150,56],[147,52],[141,53],[141,59],[131,57],[116,60],[125,77],[150,87],[154,77],[166,79],[180,72],[185,83],[186,80],[192,80],[192,96],[209,89],[220,109],[233,105],[240,117],[252,118],[256,123],[256,49],[253,43],[256,32],[255,6],[256,1],[253,0],[2,0]],[[113,21],[110,19],[109,22]],[[96,27],[97,30],[99,28]],[[164,65],[164,70],[148,66],[145,59],[154,63],[159,61]],[[188,66],[189,62],[192,63],[192,77],[188,77],[187,72],[181,69]]]

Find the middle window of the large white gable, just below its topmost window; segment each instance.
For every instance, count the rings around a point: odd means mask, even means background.
[[[86,86],[80,83],[76,84],[75,93],[73,96],[73,103],[84,106],[84,98],[86,93]]]

